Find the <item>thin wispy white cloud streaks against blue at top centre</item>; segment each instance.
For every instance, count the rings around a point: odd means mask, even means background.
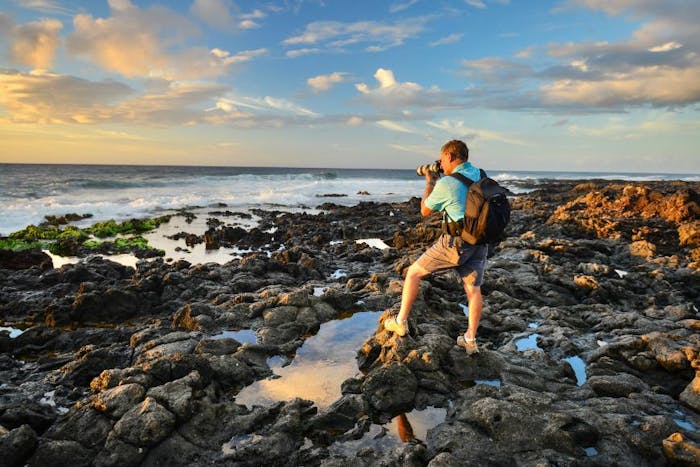
[[[306,25],[303,33],[284,41],[285,46],[316,45],[339,49],[364,45],[365,50],[380,51],[396,47],[423,32],[431,17],[408,18],[393,23],[378,21],[316,21]]]

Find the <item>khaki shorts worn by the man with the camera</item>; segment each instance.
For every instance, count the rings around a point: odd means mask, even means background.
[[[467,284],[481,286],[488,245],[469,245],[459,237],[442,234],[416,263],[430,273],[454,269]]]

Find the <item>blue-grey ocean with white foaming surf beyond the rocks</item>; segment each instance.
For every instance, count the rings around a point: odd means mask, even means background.
[[[525,191],[523,181],[545,179],[700,180],[698,174],[487,171],[515,193]],[[83,223],[90,224],[219,203],[237,212],[313,210],[325,202],[406,201],[420,196],[423,184],[415,170],[0,164],[0,236],[45,215],[89,213]]]

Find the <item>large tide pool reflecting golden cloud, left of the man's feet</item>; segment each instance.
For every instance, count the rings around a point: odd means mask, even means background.
[[[276,379],[256,381],[238,393],[236,402],[252,407],[301,397],[328,407],[340,398],[341,383],[357,373],[357,350],[377,329],[379,314],[360,312],[322,324],[291,364],[273,366]]]

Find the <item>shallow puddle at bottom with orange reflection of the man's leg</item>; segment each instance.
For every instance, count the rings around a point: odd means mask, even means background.
[[[444,422],[446,417],[447,409],[440,407],[413,410],[394,417],[386,425],[372,424],[362,438],[333,443],[328,447],[328,451],[335,455],[355,456],[361,449],[373,448],[375,451],[383,451],[402,443],[425,441],[428,430]]]

